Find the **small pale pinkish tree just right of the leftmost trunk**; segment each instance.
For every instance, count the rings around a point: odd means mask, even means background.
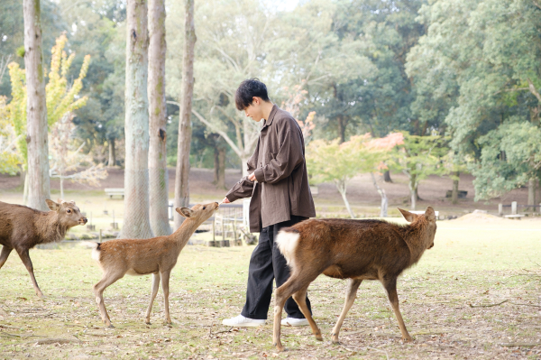
[[[85,143],[75,143],[73,117],[67,113],[50,130],[50,178],[60,179],[60,198],[64,198],[64,180],[97,186],[97,180],[107,177],[103,164],[95,165],[92,156],[82,152]]]

